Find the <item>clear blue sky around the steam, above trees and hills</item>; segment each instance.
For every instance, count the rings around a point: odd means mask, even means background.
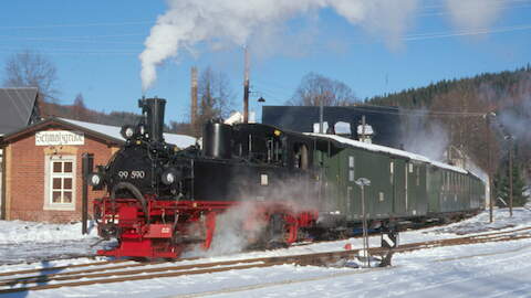
[[[398,42],[374,33],[371,25],[379,20],[353,23],[331,8],[295,13],[282,19],[272,38],[251,39],[251,108],[259,108],[259,96],[266,105],[282,105],[308,72],[340,79],[365,98],[531,62],[530,0],[486,0],[498,13],[479,29],[454,25],[445,0],[412,1],[416,9]],[[4,1],[0,67],[17,52],[37,51],[59,71],[62,104],[81,93],[90,108],[137,111],[136,99],[144,94],[138,55],[167,10],[166,1]],[[460,13],[472,18],[482,12]],[[225,72],[236,107],[241,106],[242,47],[228,43],[215,51],[208,44],[196,44],[195,55],[180,51],[157,68],[157,81],[145,95],[168,99],[167,121],[187,120],[192,65]]]

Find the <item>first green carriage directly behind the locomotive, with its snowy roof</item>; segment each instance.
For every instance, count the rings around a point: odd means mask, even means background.
[[[360,222],[360,178],[365,187],[365,210],[369,220],[418,217],[427,214],[427,159],[400,150],[363,143],[334,135],[313,135],[325,145],[315,155],[323,160],[330,216]],[[317,141],[319,142],[319,141]]]

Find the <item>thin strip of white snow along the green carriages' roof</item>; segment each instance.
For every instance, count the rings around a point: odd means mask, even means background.
[[[446,163],[442,163],[442,162],[439,162],[439,161],[430,160],[429,158],[427,158],[425,156],[420,156],[420,155],[417,155],[417,153],[413,153],[413,152],[408,152],[408,151],[404,151],[404,150],[399,150],[399,149],[395,149],[395,148],[391,148],[391,147],[362,142],[362,141],[344,138],[344,137],[341,137],[341,136],[336,136],[336,135],[322,135],[322,134],[312,134],[312,132],[305,132],[304,135],[315,136],[315,137],[321,137],[321,138],[327,138],[327,139],[332,139],[332,140],[337,141],[337,142],[341,142],[341,143],[350,145],[352,147],[362,148],[362,149],[369,150],[369,151],[375,151],[375,152],[385,152],[385,153],[389,153],[389,155],[393,155],[393,156],[398,156],[398,157],[404,157],[404,158],[408,158],[408,159],[412,159],[412,160],[417,160],[417,161],[421,161],[421,162],[431,163],[435,167],[448,169],[448,170],[451,170],[451,171],[456,171],[456,172],[460,172],[460,173],[468,173],[468,171],[466,171],[461,168],[454,167],[454,166],[450,166],[450,164],[446,164]]]

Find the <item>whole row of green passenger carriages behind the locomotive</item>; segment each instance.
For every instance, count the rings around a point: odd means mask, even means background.
[[[483,206],[482,182],[462,169],[335,135],[314,136],[324,210],[336,219],[351,223],[363,219],[360,178],[371,181],[363,198],[373,222],[424,220]]]

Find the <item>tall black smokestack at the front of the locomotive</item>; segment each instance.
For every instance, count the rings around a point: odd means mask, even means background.
[[[163,98],[143,98],[138,100],[138,107],[142,114],[146,114],[147,132],[152,141],[164,141],[164,107],[166,99]]]

